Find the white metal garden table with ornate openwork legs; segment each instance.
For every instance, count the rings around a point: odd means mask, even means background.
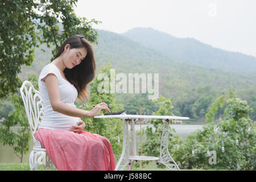
[[[115,171],[123,170],[127,166],[128,170],[131,170],[133,160],[156,160],[156,163],[164,164],[170,170],[180,170],[179,166],[172,159],[168,151],[168,135],[169,135],[169,125],[170,119],[189,119],[188,117],[177,117],[171,115],[133,115],[133,114],[120,114],[120,115],[97,115],[94,118],[121,118],[123,123],[123,149],[122,154],[118,160],[117,166],[115,166]],[[160,141],[160,156],[138,156],[136,155],[136,135],[134,129],[134,121],[138,118],[144,119],[164,119],[163,122],[163,132]],[[129,129],[128,123],[130,123],[131,128],[131,151],[129,143]]]

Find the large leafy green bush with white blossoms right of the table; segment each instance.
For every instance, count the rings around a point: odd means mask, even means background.
[[[188,135],[179,152],[172,150],[181,168],[213,168],[255,170],[255,125],[249,118],[251,108],[230,91],[223,118],[214,122],[214,111],[224,104],[225,97],[214,102],[202,131]],[[192,151],[194,155],[192,155]],[[210,151],[216,152],[216,163],[210,163]]]

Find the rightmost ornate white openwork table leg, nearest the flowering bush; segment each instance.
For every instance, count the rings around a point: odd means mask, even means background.
[[[169,150],[168,150],[168,140],[169,140],[169,119],[166,119],[163,124],[163,131],[160,143],[160,159],[156,163],[164,164],[170,170],[179,170],[179,166],[175,163],[174,159],[172,159]],[[171,162],[171,163],[170,163]]]

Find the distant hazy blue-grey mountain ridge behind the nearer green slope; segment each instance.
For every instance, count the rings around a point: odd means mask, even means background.
[[[139,27],[121,35],[184,63],[220,68],[224,71],[256,72],[256,57],[214,48],[193,38],[175,38],[153,28]]]

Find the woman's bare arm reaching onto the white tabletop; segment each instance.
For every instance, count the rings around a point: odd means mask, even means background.
[[[56,112],[69,115],[72,117],[93,118],[95,115],[100,113],[101,109],[106,109],[109,111],[108,105],[106,105],[104,102],[96,105],[97,108],[95,109],[94,107],[90,111],[69,106],[60,101],[60,92],[59,92],[59,86],[58,86],[59,81],[57,77],[54,74],[50,73],[47,75],[47,77],[44,80],[46,83],[46,88],[48,91],[49,100],[51,102],[52,109]]]

